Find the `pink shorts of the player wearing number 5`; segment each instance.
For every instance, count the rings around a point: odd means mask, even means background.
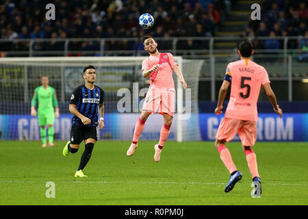
[[[257,126],[255,121],[236,120],[233,118],[224,118],[221,121],[216,133],[216,139],[224,139],[230,142],[237,132],[244,146],[253,146],[257,141]]]

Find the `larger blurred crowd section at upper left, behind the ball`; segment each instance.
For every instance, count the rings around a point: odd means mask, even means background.
[[[26,51],[29,42],[14,39],[36,39],[34,51],[64,49],[65,38],[140,37],[145,30],[138,25],[140,14],[150,13],[155,37],[213,36],[235,0],[0,0],[0,36],[12,40],[1,44],[1,50]],[[45,6],[55,5],[55,21],[47,21]],[[44,42],[52,38],[52,42]],[[137,49],[133,42],[110,42],[107,50]],[[181,45],[180,45],[181,46]],[[183,44],[182,48],[189,47]],[[99,42],[72,42],[68,49],[99,50]],[[140,46],[141,47],[141,46]]]

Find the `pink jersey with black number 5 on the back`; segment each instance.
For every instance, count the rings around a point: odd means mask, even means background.
[[[228,64],[226,75],[231,75],[231,94],[224,117],[257,121],[261,85],[270,83],[265,68],[251,60],[239,60]]]

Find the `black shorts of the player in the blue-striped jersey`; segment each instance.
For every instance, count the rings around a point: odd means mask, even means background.
[[[97,141],[96,126],[72,125],[72,129],[70,130],[70,144],[80,144],[88,138],[94,138]]]

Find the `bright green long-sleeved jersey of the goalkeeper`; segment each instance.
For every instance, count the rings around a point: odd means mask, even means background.
[[[55,97],[55,89],[48,86],[44,89],[43,86],[39,86],[34,90],[34,98],[31,101],[31,106],[36,106],[38,101],[38,114],[49,114],[53,113],[54,107],[58,107],[57,98]]]

